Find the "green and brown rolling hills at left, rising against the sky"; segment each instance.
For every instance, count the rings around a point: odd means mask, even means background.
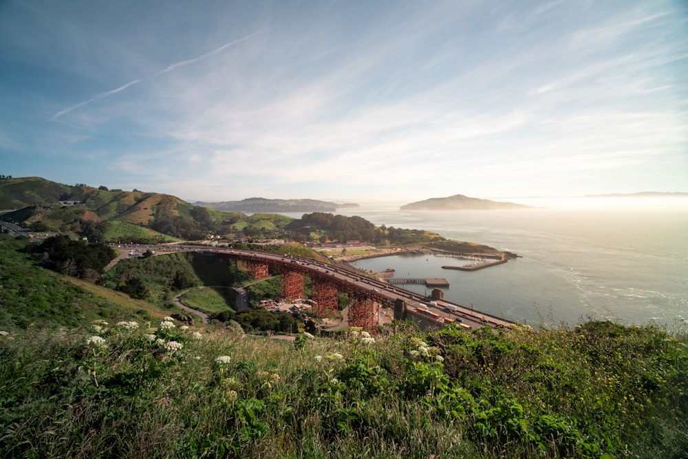
[[[237,231],[253,236],[291,220],[282,215],[248,220],[241,213],[195,206],[172,195],[71,186],[39,177],[0,180],[0,209],[17,209],[1,219],[32,231],[89,233],[89,239],[101,241],[167,242]]]

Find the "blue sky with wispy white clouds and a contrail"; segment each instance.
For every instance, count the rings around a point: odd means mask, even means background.
[[[189,202],[686,192],[688,2],[2,0],[0,174]]]

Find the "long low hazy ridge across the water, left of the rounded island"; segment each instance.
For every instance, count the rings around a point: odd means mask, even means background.
[[[195,202],[197,206],[210,207],[216,211],[226,212],[334,212],[337,209],[358,207],[358,204],[336,204],[335,202],[311,199],[266,199],[247,198],[241,201]]]

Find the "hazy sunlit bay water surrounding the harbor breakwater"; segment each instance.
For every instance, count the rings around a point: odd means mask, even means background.
[[[442,277],[450,284],[445,298],[476,310],[547,327],[590,319],[656,321],[669,328],[687,323],[685,208],[401,211],[398,205],[367,204],[337,213],[520,255],[475,272],[442,269],[462,261],[426,255],[356,262],[377,271],[394,268],[396,277]],[[424,286],[407,288],[427,292]]]

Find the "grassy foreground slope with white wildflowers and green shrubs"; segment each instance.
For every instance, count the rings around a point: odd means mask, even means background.
[[[179,325],[2,334],[0,456],[682,458],[688,450],[685,333],[590,322],[288,343]]]

